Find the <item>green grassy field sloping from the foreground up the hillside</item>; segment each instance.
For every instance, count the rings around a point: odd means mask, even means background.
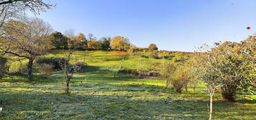
[[[47,56],[63,56],[53,51]],[[72,59],[85,61],[85,72],[75,74],[71,94],[63,94],[64,80],[60,71],[48,79],[6,76],[22,82],[0,82],[0,119],[208,119],[208,96],[204,86],[196,92],[189,89],[176,94],[165,81],[138,79],[136,76],[113,74],[120,67],[124,52],[77,51]],[[128,57],[126,57],[128,58]],[[158,63],[161,59],[133,56],[123,66],[137,69],[140,64]],[[155,67],[148,65],[148,68]],[[152,68],[157,69],[157,68]],[[256,97],[240,97],[237,102],[214,97],[214,119],[256,119]]]

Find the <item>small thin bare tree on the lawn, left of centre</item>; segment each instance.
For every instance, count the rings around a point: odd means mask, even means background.
[[[66,56],[65,61],[59,61],[59,64],[62,68],[64,79],[66,82],[65,94],[70,94],[70,81],[75,72],[81,69],[81,66],[75,64],[75,66],[71,66],[70,60],[72,59],[72,55],[75,52],[75,48],[69,48],[69,54]]]

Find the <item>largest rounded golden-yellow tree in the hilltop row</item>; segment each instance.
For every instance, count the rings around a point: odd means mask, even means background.
[[[130,43],[127,38],[123,36],[115,36],[111,41],[110,45],[115,50],[128,50],[130,49]]]

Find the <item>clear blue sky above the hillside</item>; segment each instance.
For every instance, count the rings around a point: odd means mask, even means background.
[[[214,41],[242,41],[256,29],[256,0],[54,0],[38,16],[55,31],[126,36],[132,44],[193,51]],[[29,16],[32,16],[30,14]],[[250,31],[246,28],[252,27]]]

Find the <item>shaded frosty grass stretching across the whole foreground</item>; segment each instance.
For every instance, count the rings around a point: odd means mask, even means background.
[[[61,89],[44,91],[0,91],[1,119],[207,119],[207,101],[184,99],[166,89],[151,85],[75,84],[72,94]],[[58,86],[52,86],[58,87]],[[21,86],[16,86],[17,89]],[[22,86],[23,88],[23,86]],[[26,86],[24,86],[26,88]],[[27,86],[31,89],[31,87]],[[4,89],[12,89],[5,87]],[[40,91],[37,91],[40,89]],[[113,91],[115,91],[113,93]],[[118,93],[116,93],[116,91]],[[145,94],[133,94],[143,92]],[[127,93],[128,92],[128,93]],[[104,94],[105,93],[105,94]],[[157,94],[156,94],[157,93]],[[151,99],[158,98],[158,99]],[[194,96],[197,97],[197,96]],[[207,98],[206,98],[207,99]],[[214,119],[250,119],[252,106],[214,101]],[[241,113],[243,111],[243,113]]]

